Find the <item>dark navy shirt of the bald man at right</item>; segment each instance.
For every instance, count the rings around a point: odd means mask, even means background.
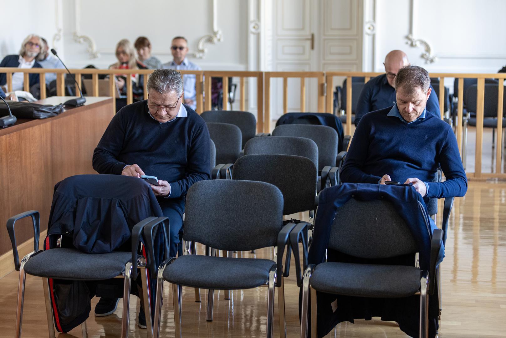
[[[427,110],[441,118],[439,101],[434,88],[427,100]],[[396,102],[395,89],[389,85],[387,74],[371,78],[362,89],[355,112],[355,125],[370,111],[391,107]]]

